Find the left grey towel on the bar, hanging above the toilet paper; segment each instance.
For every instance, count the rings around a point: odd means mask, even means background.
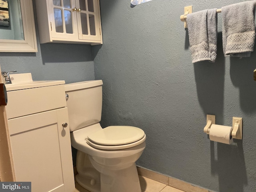
[[[188,14],[187,25],[192,63],[204,60],[215,62],[217,56],[216,9]]]

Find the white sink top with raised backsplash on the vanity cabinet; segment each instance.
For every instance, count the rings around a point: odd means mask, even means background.
[[[33,81],[31,73],[10,74],[11,84],[5,84],[7,91],[30,89],[65,84],[65,81]]]

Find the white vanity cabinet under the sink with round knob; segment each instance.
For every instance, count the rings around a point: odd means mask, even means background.
[[[6,84],[6,90],[16,181],[31,182],[33,192],[73,192],[64,81]]]

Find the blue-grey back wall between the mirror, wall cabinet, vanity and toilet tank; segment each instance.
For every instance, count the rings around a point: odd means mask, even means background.
[[[40,44],[33,0],[37,36],[37,53],[0,52],[2,71],[32,73],[33,80],[65,80],[66,83],[94,80],[94,62],[90,45]]]

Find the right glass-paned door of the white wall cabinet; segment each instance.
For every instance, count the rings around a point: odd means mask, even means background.
[[[100,40],[98,1],[76,0],[79,39]]]

